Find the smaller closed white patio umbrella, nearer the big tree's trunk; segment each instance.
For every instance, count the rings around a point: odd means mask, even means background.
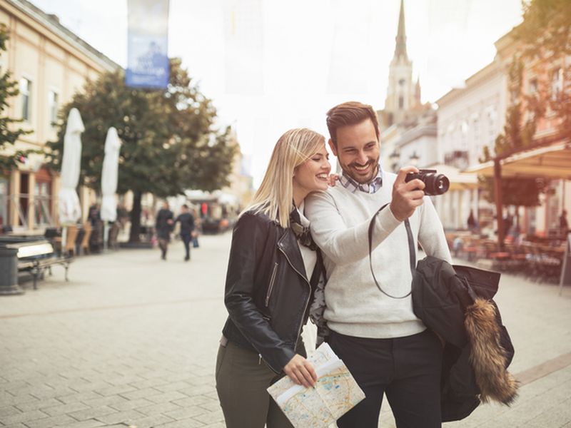
[[[103,159],[103,170],[101,171],[101,220],[105,222],[103,233],[104,246],[107,248],[108,228],[107,222],[115,221],[117,218],[117,203],[115,192],[117,191],[119,148],[121,141],[117,135],[117,130],[113,127],[107,131],[105,139],[105,158]]]

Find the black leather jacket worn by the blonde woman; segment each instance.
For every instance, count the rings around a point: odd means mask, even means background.
[[[295,355],[323,263],[305,277],[295,234],[261,213],[244,213],[232,235],[223,335],[253,348],[276,373]],[[313,287],[315,288],[315,287]]]

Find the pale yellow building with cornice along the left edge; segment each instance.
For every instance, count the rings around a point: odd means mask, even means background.
[[[16,142],[21,149],[41,148],[56,138],[57,112],[81,90],[87,79],[113,71],[118,64],[59,24],[59,19],[25,0],[0,0],[0,23],[9,29],[0,69],[11,71],[20,94],[2,114],[22,118],[31,131]],[[11,156],[11,153],[0,153]],[[0,225],[39,228],[57,223],[59,179],[43,159],[31,156],[25,165],[0,175]],[[80,192],[84,215],[87,190]]]

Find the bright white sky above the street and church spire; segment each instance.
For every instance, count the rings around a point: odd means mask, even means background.
[[[127,0],[31,1],[126,67]],[[258,184],[288,129],[327,136],[325,112],[343,101],[383,108],[399,8],[400,0],[171,0],[168,55],[213,100],[218,124],[236,130]],[[422,101],[462,86],[520,22],[520,0],[405,0]]]

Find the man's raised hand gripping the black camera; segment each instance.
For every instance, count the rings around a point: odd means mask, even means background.
[[[414,166],[400,168],[393,185],[393,200],[390,201],[390,211],[399,221],[406,220],[413,215],[416,207],[423,205],[425,184],[418,179],[405,183],[408,173],[418,173],[418,169]]]

